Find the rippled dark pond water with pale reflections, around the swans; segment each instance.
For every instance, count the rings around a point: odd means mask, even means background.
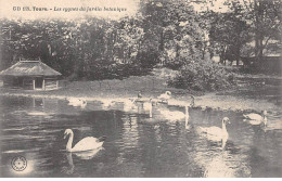
[[[243,113],[189,108],[184,119],[164,112],[183,107],[154,105],[152,118],[142,103],[129,107],[92,101],[81,108],[67,100],[0,96],[1,177],[281,177],[282,115],[268,114],[267,128],[243,121]],[[229,139],[206,138],[198,128],[221,127],[229,117]],[[102,148],[67,153],[65,129],[74,144],[106,135]],[[12,168],[14,157],[27,166]]]

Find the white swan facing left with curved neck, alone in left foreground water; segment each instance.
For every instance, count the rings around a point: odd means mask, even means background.
[[[64,132],[64,139],[69,134],[68,141],[66,143],[66,151],[67,152],[85,152],[99,148],[103,145],[105,137],[101,137],[99,139],[93,137],[87,137],[80,140],[74,147],[72,147],[73,140],[74,140],[74,132],[72,129],[66,129]]]

